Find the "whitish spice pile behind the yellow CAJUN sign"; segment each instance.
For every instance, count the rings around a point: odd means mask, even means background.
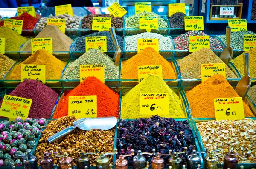
[[[157,33],[145,32],[125,37],[125,51],[137,51],[138,39],[158,39],[159,51],[173,50],[172,37]]]

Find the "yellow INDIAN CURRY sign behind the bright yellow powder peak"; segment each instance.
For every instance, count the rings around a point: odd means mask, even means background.
[[[158,75],[163,78],[162,65],[138,66],[139,82],[143,81],[148,74]]]

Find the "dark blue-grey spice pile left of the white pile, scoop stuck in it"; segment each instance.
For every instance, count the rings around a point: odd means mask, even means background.
[[[97,36],[106,36],[107,37],[107,51],[116,51],[115,44],[113,42],[113,39],[112,39],[109,31],[95,32],[93,34],[79,37],[76,41],[76,46],[74,48],[74,51],[85,51],[85,37],[97,37]],[[118,45],[122,51],[124,39],[122,37],[120,37],[119,35],[116,35],[116,39],[117,39]]]

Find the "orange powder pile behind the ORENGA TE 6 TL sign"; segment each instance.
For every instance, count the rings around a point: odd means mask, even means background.
[[[193,118],[215,118],[216,98],[239,97],[223,75],[214,75],[186,92]],[[245,117],[254,117],[246,100],[243,100]]]

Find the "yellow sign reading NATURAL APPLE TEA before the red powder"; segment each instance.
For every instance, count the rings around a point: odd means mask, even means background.
[[[97,96],[69,96],[68,116],[76,118],[97,117]]]

